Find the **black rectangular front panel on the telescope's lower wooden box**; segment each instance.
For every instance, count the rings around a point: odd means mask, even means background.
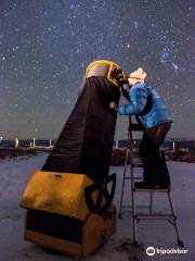
[[[83,222],[69,216],[28,210],[26,228],[52,237],[82,244]]]

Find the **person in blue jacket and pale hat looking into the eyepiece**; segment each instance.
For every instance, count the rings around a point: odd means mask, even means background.
[[[171,127],[172,116],[157,90],[144,83],[146,73],[139,69],[130,74],[128,104],[120,104],[119,115],[135,115],[144,134],[139,153],[143,163],[144,181],[135,183],[136,188],[168,188],[169,172],[159,147]]]

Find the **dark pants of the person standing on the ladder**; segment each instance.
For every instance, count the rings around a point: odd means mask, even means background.
[[[159,151],[170,126],[171,123],[162,123],[144,132],[139,152],[144,169],[144,182],[151,185],[170,185],[166,160]]]

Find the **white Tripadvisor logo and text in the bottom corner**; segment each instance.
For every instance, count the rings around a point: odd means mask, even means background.
[[[183,253],[187,253],[188,250],[187,249],[180,249],[180,248],[171,248],[171,249],[162,249],[162,248],[154,248],[154,247],[147,247],[146,248],[146,254],[147,256],[154,256],[156,254],[183,254]]]

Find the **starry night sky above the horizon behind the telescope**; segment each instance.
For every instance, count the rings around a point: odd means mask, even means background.
[[[169,136],[195,138],[194,0],[0,0],[0,136],[57,138],[100,59],[143,67],[173,114]]]

